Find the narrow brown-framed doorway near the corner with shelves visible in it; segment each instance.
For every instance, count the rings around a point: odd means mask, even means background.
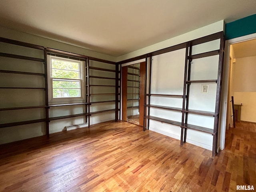
[[[122,120],[143,126],[146,62],[122,67]]]

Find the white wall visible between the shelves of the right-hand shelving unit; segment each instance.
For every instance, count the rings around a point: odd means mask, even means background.
[[[220,48],[220,41],[200,44],[192,47],[192,54],[198,54]],[[165,54],[153,56],[152,61],[152,94],[183,94],[184,64],[186,49],[180,49]],[[191,67],[191,80],[217,79],[219,56],[194,59]],[[189,109],[215,111],[216,83],[207,83],[208,93],[201,92],[201,85],[190,85]],[[150,104],[182,108],[182,98],[151,96]],[[182,113],[159,108],[150,108],[150,115],[181,122]],[[188,124],[214,127],[214,117],[188,114]],[[150,130],[180,139],[180,127],[150,120]],[[212,150],[213,137],[211,134],[195,130],[187,131],[188,143]]]

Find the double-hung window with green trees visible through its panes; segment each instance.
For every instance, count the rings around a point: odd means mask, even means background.
[[[83,98],[83,63],[79,60],[49,56],[50,85],[52,101]]]

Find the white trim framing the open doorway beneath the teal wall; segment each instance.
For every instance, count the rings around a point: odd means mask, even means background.
[[[223,150],[225,148],[225,130],[226,130],[226,112],[227,112],[227,102],[228,100],[228,80],[229,80],[229,75],[228,71],[230,70],[229,66],[229,57],[230,57],[230,45],[238,42],[243,42],[247,40],[252,40],[256,38],[256,33],[242,36],[242,37],[237,37],[233,38],[230,40],[226,40],[225,43],[225,54],[224,54],[224,66],[223,66],[223,74],[222,74],[222,96],[221,96],[221,107],[220,107],[220,140],[219,140],[219,145],[220,149]]]

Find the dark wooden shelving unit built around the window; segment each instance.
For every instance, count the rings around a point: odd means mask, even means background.
[[[69,52],[64,52],[60,50],[55,50],[52,48],[45,48],[43,46],[38,46],[34,44],[29,44],[29,43],[24,43],[16,40],[10,40],[6,38],[0,38],[0,42],[7,43],[7,44],[13,44],[15,46],[20,46],[22,48],[31,48],[31,50],[40,50],[42,51],[42,56],[43,58],[34,58],[34,57],[29,57],[29,56],[24,56],[24,55],[17,55],[17,54],[9,54],[2,52],[0,53],[0,57],[7,57],[7,58],[15,58],[15,59],[20,59],[20,60],[30,60],[30,61],[35,61],[35,62],[40,62],[44,65],[44,72],[43,73],[36,73],[36,72],[27,72],[27,71],[19,71],[19,70],[3,70],[0,69],[0,73],[5,73],[5,74],[19,74],[19,75],[24,75],[25,76],[42,76],[44,78],[44,87],[19,87],[19,86],[0,86],[0,89],[31,89],[31,90],[43,90],[44,91],[44,98],[45,98],[45,105],[38,105],[38,106],[17,106],[17,107],[5,107],[5,108],[0,108],[0,111],[9,111],[9,110],[30,110],[30,109],[36,109],[36,108],[43,108],[45,110],[45,117],[40,118],[40,119],[32,119],[32,120],[26,120],[26,121],[19,121],[19,122],[9,122],[9,123],[2,123],[0,124],[0,128],[5,128],[5,127],[12,127],[12,126],[20,126],[20,125],[26,125],[26,124],[34,124],[34,123],[39,123],[39,122],[45,122],[46,123],[46,134],[49,136],[49,123],[50,121],[53,120],[60,120],[60,119],[65,119],[65,118],[72,118],[72,117],[78,117],[78,116],[85,116],[86,117],[86,122],[88,122],[88,127],[90,127],[90,116],[93,114],[99,114],[99,113],[104,113],[104,112],[115,112],[115,120],[118,120],[120,118],[120,68],[118,65],[116,65],[115,62],[107,61],[107,60],[102,60],[98,58],[93,58],[93,57],[88,57],[84,55],[79,55],[79,54],[74,54],[74,53],[69,53]],[[85,100],[84,102],[78,102],[78,103],[65,103],[65,104],[49,104],[48,102],[48,78],[47,78],[47,54],[55,55],[55,56],[61,56],[65,58],[79,58],[84,60],[85,62]],[[90,61],[97,61],[101,62],[102,66],[105,66],[106,64],[112,64],[115,65],[115,70],[111,70],[108,68],[99,68],[99,67],[93,67],[89,65]],[[113,76],[112,77],[104,77],[104,76],[90,76],[90,70],[100,70],[104,72],[112,72]],[[102,84],[90,84],[90,79],[95,78],[95,79],[104,79],[104,80],[114,80],[113,85],[102,85]],[[115,92],[113,93],[93,93],[90,94],[90,87],[113,87],[115,88]],[[115,95],[115,100],[102,100],[102,101],[95,101],[95,102],[90,102],[90,97],[93,97],[95,95]],[[18,94],[17,94],[18,96]],[[101,111],[96,111],[96,112],[90,112],[90,107],[93,104],[104,104],[104,103],[115,103],[115,108],[114,109],[108,109],[108,110],[101,110]],[[85,112],[79,113],[79,114],[70,114],[70,115],[65,115],[65,116],[54,116],[50,117],[49,116],[49,110],[51,108],[58,108],[58,107],[65,107],[65,106],[78,106],[78,105],[83,105],[85,106]],[[119,114],[118,114],[119,113]]]

